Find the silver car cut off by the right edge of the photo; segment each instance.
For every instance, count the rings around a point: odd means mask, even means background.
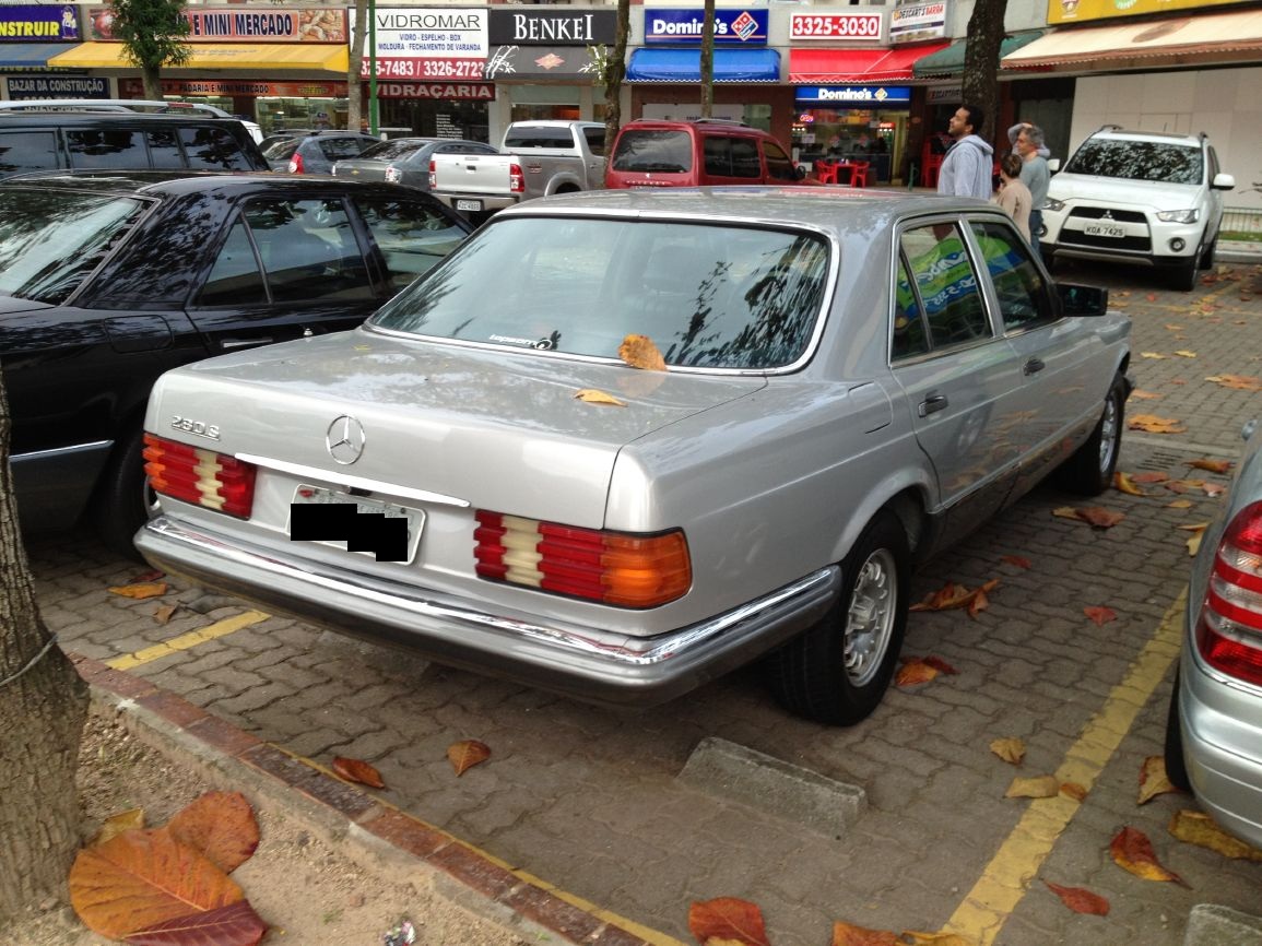
[[[1252,433],[1254,424],[1249,424]],[[1201,534],[1166,724],[1166,773],[1262,848],[1262,435]]]

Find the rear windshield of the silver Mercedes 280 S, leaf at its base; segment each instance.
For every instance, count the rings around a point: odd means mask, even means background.
[[[771,370],[805,353],[828,269],[813,233],[515,217],[486,226],[370,324],[599,358],[641,334],[671,366]],[[488,285],[512,286],[511,305]]]

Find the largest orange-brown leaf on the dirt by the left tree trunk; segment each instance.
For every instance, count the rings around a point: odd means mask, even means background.
[[[244,899],[227,874],[168,831],[127,831],[81,850],[69,885],[80,920],[111,940]]]

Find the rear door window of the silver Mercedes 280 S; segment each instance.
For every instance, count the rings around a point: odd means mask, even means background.
[[[958,225],[935,223],[907,230],[900,242],[933,347],[989,338],[992,333],[977,271]]]

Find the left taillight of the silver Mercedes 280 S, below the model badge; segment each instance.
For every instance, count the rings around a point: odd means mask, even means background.
[[[154,492],[249,518],[257,467],[213,450],[145,434],[145,476]]]

